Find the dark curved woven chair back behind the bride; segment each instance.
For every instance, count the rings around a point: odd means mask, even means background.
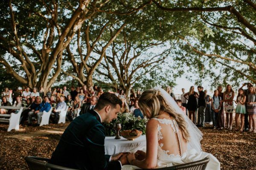
[[[172,167],[151,169],[151,170],[205,170],[209,160],[210,159],[208,157],[206,157],[199,161],[194,161],[194,162],[190,162],[190,163],[186,163],[186,164],[179,164],[179,165],[175,165]],[[148,170],[148,169],[143,169],[143,170]]]

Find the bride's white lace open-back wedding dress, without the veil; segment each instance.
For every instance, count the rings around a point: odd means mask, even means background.
[[[163,146],[164,143],[160,143],[160,140],[163,139],[165,136],[162,134],[162,128],[164,125],[170,125],[172,127],[172,130],[177,136],[177,139],[173,139],[173,141],[168,142],[176,142],[178,140],[178,146],[180,153],[181,153],[181,147],[180,147],[180,136],[179,134],[179,126],[177,125],[177,122],[172,119],[157,119],[157,130],[158,130],[158,149],[157,149],[157,168],[161,167],[171,167],[175,166],[177,164],[185,164],[192,161],[198,161],[201,159],[204,159],[205,157],[208,157],[210,159],[209,163],[207,164],[206,170],[220,170],[220,163],[219,161],[212,156],[210,153],[206,153],[203,151],[198,152],[195,149],[187,148],[185,152],[183,152],[180,156],[180,154],[169,154],[169,150],[164,150]],[[145,150],[143,150],[145,151]],[[132,165],[123,165],[122,170],[135,170],[140,169],[136,166]]]

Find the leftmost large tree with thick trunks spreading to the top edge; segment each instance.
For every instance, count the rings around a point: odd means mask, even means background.
[[[0,56],[0,63],[22,84],[49,88],[61,72],[64,49],[82,23],[95,13],[93,9],[106,2],[1,2],[0,50],[5,54]],[[19,69],[15,69],[16,65],[20,65]]]

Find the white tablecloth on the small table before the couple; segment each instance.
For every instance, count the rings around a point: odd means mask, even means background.
[[[115,139],[115,136],[105,138],[105,154],[115,155],[121,152],[135,153],[137,150],[145,150],[146,136],[141,135],[134,141],[128,141],[121,136],[121,139]]]

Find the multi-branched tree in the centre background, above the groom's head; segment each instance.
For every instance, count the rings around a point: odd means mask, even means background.
[[[113,88],[122,88],[128,94],[135,83],[139,84],[151,72],[161,69],[161,63],[167,61],[173,45],[165,43],[165,40],[134,40],[134,36],[124,30],[120,38],[111,44],[104,62],[96,70],[103,77],[99,76],[101,79],[95,80]],[[159,50],[161,48],[162,51]],[[154,52],[155,50],[159,51]],[[100,51],[96,50],[96,53],[100,54]]]

